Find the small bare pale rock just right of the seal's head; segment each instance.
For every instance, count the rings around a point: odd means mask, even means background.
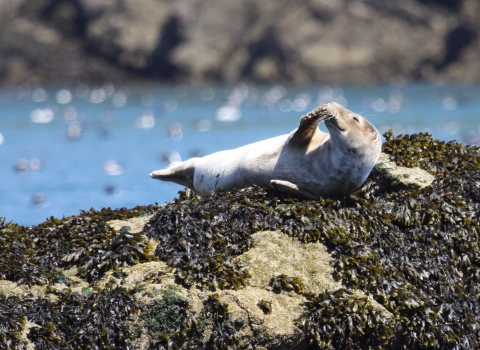
[[[423,188],[430,186],[435,176],[419,167],[407,168],[396,165],[387,154],[381,153],[375,164],[375,170],[391,184],[403,184],[408,187]]]

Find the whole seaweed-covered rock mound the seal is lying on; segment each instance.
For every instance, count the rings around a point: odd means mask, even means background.
[[[384,136],[433,182],[0,221],[0,347],[478,348],[480,149]]]

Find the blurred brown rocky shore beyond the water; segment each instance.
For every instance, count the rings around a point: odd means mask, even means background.
[[[0,84],[480,80],[477,0],[9,0]]]

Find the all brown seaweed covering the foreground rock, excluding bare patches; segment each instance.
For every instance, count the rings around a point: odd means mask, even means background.
[[[384,152],[398,165],[434,174],[432,186],[401,187],[374,170],[362,189],[342,199],[299,201],[256,187],[206,197],[187,190],[161,208],[90,210],[30,228],[2,219],[0,277],[68,285],[62,269],[76,266],[93,283],[106,271],[150,259],[146,235],[158,240],[155,254],[176,269],[184,286],[239,289],[248,285],[249,274],[234,258],[253,246],[253,233],[280,229],[302,242],[325,244],[334,257],[335,277],[345,288],[369,296],[348,290],[313,295],[293,277],[275,277],[277,292],[305,296],[297,325],[313,347],[480,348],[479,149],[426,133],[393,137],[389,132],[385,138]],[[142,234],[117,234],[105,225],[146,211],[157,214]],[[38,348],[126,347],[127,339],[135,337],[128,318],[140,310],[133,291],[88,290],[60,294],[57,301],[0,296],[0,347],[25,346],[26,320],[40,326],[29,333]],[[377,311],[370,298],[393,316]],[[188,305],[171,303],[179,315],[188,316],[182,311]],[[244,321],[232,323],[218,295],[210,295],[205,307],[199,317],[215,325],[205,346],[235,347]],[[265,300],[259,307],[268,313]],[[192,317],[165,332],[168,339],[159,346],[174,347],[195,337],[201,322]],[[85,331],[78,335],[79,330]]]

